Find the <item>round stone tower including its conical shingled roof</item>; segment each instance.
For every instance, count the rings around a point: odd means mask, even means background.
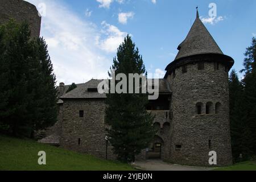
[[[228,72],[234,60],[222,53],[198,11],[177,49],[165,76],[172,91],[170,160],[209,166],[209,151],[216,151],[218,166],[232,164]]]

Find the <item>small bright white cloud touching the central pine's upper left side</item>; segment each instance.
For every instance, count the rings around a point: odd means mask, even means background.
[[[97,45],[104,51],[111,53],[116,52],[118,46],[123,42],[127,32],[120,31],[117,27],[106,23],[103,21],[101,23],[103,26],[102,33],[106,35],[106,38],[100,40],[100,36],[96,38]]]

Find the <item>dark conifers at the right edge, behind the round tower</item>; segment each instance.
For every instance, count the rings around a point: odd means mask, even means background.
[[[246,48],[243,61],[245,77],[240,82],[236,72],[229,79],[230,126],[233,158],[240,161],[253,158],[256,154],[256,40]]]

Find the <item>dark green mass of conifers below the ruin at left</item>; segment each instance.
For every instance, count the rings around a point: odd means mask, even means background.
[[[55,75],[42,38],[27,23],[0,27],[0,122],[9,133],[30,136],[56,122]]]

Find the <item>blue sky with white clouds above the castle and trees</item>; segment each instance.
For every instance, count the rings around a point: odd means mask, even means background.
[[[58,82],[106,78],[118,45],[130,34],[150,73],[164,75],[199,6],[200,18],[222,51],[242,69],[256,36],[254,0],[27,0],[42,16],[43,36]],[[209,17],[215,3],[217,16]],[[240,77],[242,75],[240,74]]]

